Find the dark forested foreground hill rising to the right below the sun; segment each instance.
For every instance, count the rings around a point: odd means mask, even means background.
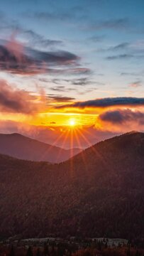
[[[144,134],[50,165],[0,156],[0,234],[144,238]]]

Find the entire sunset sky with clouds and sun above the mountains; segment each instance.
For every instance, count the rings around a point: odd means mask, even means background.
[[[143,9],[143,0],[1,0],[0,132],[63,147],[70,134],[86,147],[143,132]]]

